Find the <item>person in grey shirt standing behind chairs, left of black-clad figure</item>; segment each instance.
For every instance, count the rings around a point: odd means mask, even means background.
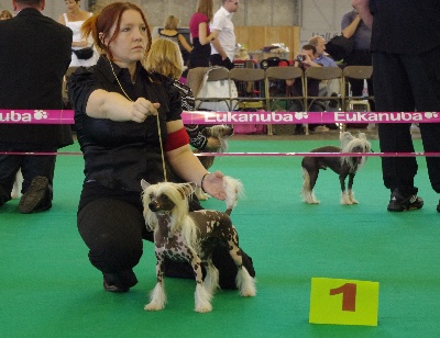
[[[371,66],[372,54],[370,52],[371,27],[369,27],[361,19],[355,9],[343,14],[341,20],[342,35],[352,38],[354,48],[352,53],[345,57],[346,66]],[[353,97],[361,97],[364,88],[363,80],[350,79],[351,91]],[[369,94],[374,95],[372,80],[367,80]],[[373,104],[373,102],[372,102]]]

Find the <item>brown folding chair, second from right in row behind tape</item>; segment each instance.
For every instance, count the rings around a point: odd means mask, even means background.
[[[317,101],[327,102],[327,101],[334,101],[334,103],[339,103],[341,109],[343,108],[343,97],[344,97],[344,88],[342,86],[342,69],[339,67],[309,67],[305,71],[304,77],[304,89],[305,89],[305,111],[310,111],[310,108]],[[310,80],[319,80],[319,81],[329,81],[329,80],[337,80],[339,81],[341,88],[341,95],[340,97],[314,97],[310,95],[309,90],[309,82]],[[344,126],[341,124],[340,129],[344,129]],[[309,134],[309,127],[306,125],[306,134]]]

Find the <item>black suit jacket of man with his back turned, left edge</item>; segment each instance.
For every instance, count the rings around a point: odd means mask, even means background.
[[[70,29],[28,8],[0,21],[0,108],[63,109],[63,77],[70,64]],[[2,124],[0,143],[63,147],[70,126]]]

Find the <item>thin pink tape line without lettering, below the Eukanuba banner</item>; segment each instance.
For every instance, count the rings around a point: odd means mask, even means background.
[[[59,153],[32,153],[32,151],[0,151],[0,155],[33,155],[33,156],[82,156],[79,151],[59,151]],[[219,157],[440,157],[440,153],[197,153],[196,156],[219,156]]]

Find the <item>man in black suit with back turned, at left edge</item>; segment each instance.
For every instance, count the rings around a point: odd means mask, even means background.
[[[13,0],[16,15],[0,21],[0,104],[11,110],[63,109],[63,77],[70,63],[72,32],[44,16],[45,0]],[[1,124],[0,151],[51,153],[73,144],[68,125]],[[23,174],[23,214],[52,207],[55,155],[0,155],[0,206]]]

